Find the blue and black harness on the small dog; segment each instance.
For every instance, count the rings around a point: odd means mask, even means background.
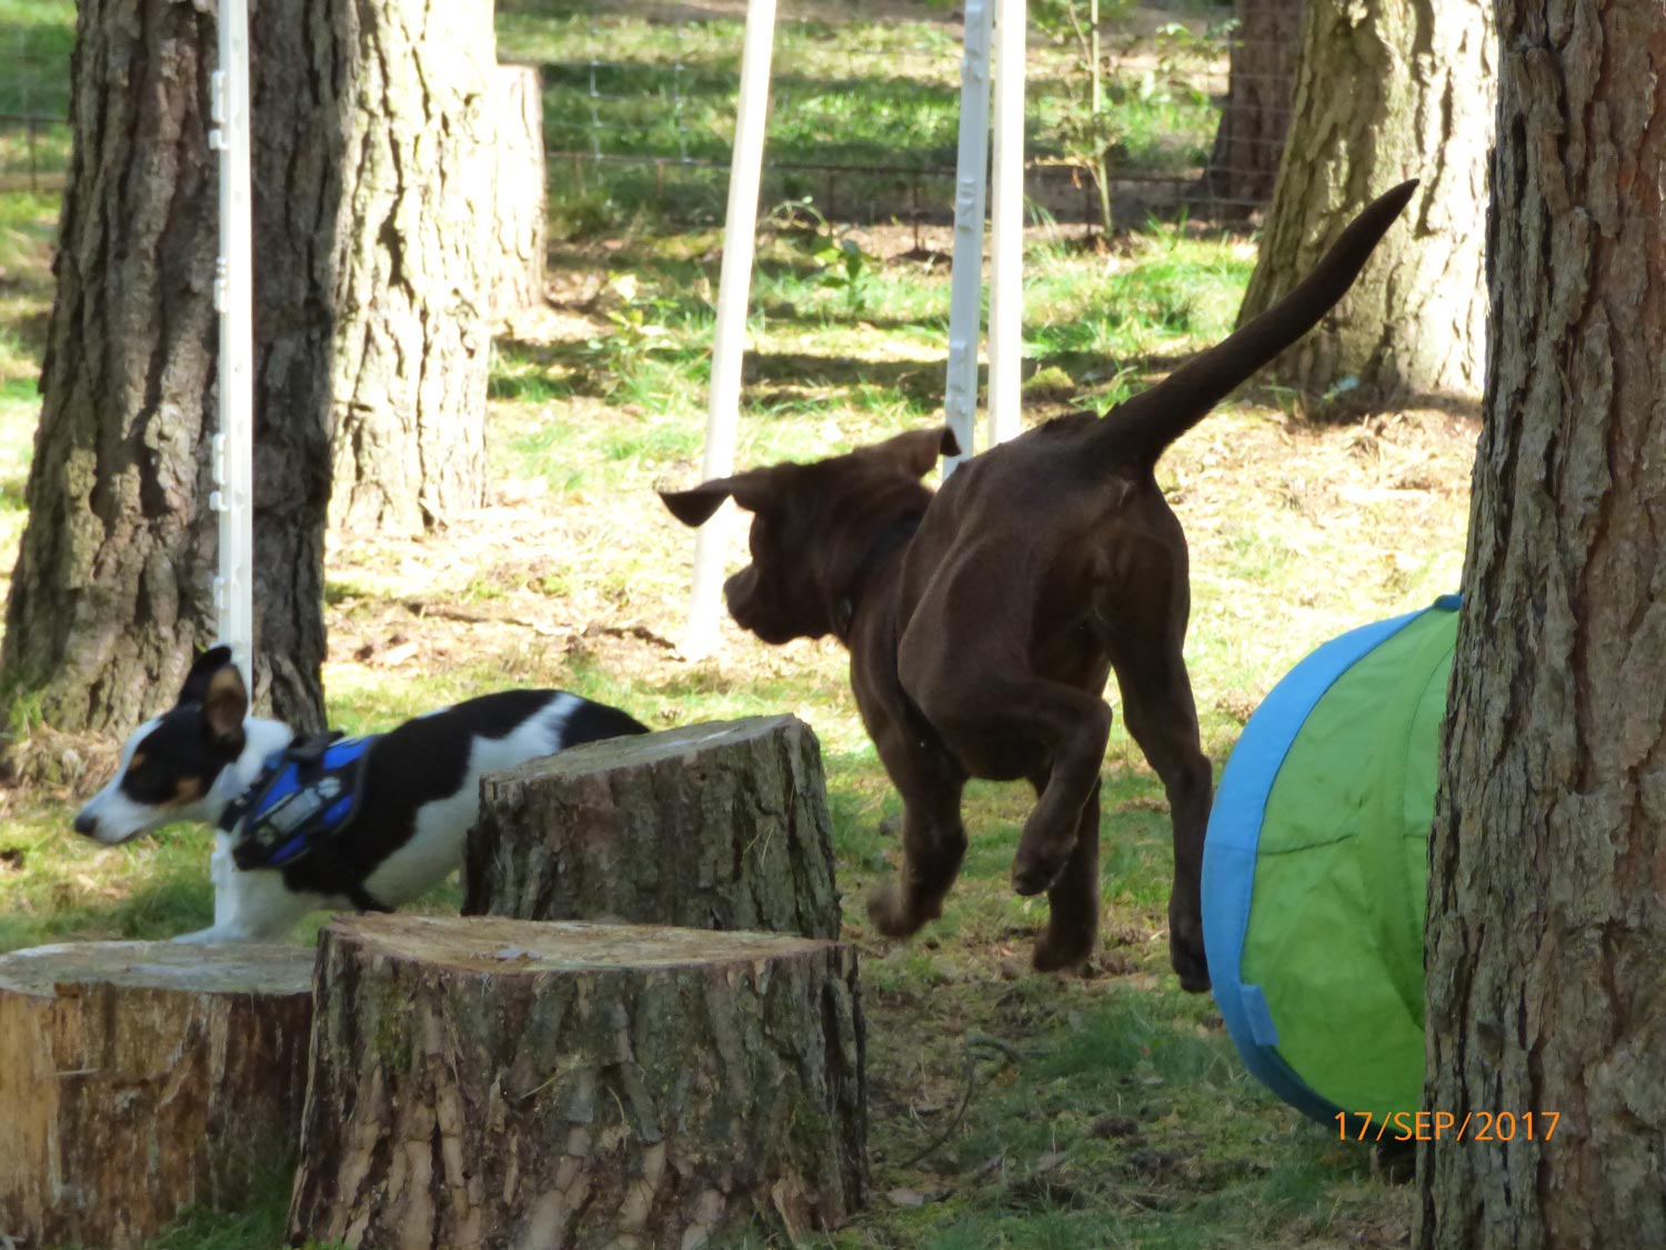
[[[365,760],[375,742],[375,735],[320,733],[268,755],[253,785],[220,817],[220,828],[237,833],[237,867],[282,868],[305,857],[338,853],[340,837],[358,815]],[[358,882],[340,893],[360,910],[388,910]]]

